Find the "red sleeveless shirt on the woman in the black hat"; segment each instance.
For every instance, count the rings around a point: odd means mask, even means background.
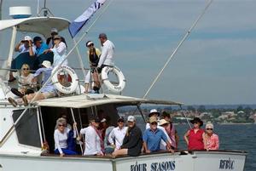
[[[196,133],[194,128],[189,130],[189,151],[204,150],[203,133],[203,129],[199,129]]]

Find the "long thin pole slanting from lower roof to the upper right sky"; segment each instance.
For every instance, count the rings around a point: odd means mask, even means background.
[[[177,53],[177,49],[183,44],[183,42],[186,40],[187,37],[189,37],[189,34],[191,33],[191,31],[194,29],[194,27],[197,25],[198,21],[201,20],[201,17],[206,13],[208,7],[211,5],[213,0],[209,0],[209,2],[207,3],[207,6],[205,7],[205,9],[202,11],[202,13],[197,17],[197,19],[195,20],[195,22],[193,23],[193,25],[189,28],[189,31],[186,32],[186,34],[184,35],[183,39],[180,41],[180,43],[177,44],[177,48],[174,49],[174,51],[172,52],[172,55],[169,57],[169,59],[166,61],[165,66],[163,66],[163,68],[160,70],[159,74],[157,75],[157,77],[154,78],[153,83],[151,83],[150,87],[148,88],[148,91],[146,92],[146,94],[144,94],[143,98],[146,98],[149,91],[151,90],[151,88],[153,88],[154,83],[157,82],[157,80],[159,79],[161,73],[166,69],[166,66],[169,64],[169,62],[172,60],[173,56]]]

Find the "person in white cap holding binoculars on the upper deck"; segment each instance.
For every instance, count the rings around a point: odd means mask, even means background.
[[[36,48],[32,44],[32,37],[26,36],[15,46],[15,52],[20,52],[20,54],[28,52],[30,56],[36,54]]]

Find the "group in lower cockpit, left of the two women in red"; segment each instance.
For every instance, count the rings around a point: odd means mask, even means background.
[[[110,126],[108,117],[102,119],[94,117],[90,119],[88,127],[80,130],[77,140],[83,141],[84,155],[89,156],[129,155],[136,157],[142,152],[174,152],[177,149],[177,138],[175,138],[177,132],[172,122],[168,120],[170,115],[164,114],[161,116],[162,119],[158,119],[156,115],[159,114],[160,112],[155,109],[150,111],[147,128],[143,133],[137,127],[136,118],[133,116],[127,117],[127,126],[125,126],[125,118],[119,117],[115,128]],[[66,128],[62,128],[63,126]],[[67,129],[67,122],[58,124],[55,130],[55,134],[61,133],[60,137],[55,136],[55,153],[60,154],[61,157],[65,154],[73,154],[73,152],[77,154],[76,151],[70,152],[68,149],[68,137],[70,136],[67,130],[73,132]],[[62,142],[63,140],[65,143]]]

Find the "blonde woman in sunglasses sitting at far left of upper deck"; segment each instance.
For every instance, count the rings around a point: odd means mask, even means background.
[[[33,74],[30,73],[30,67],[27,64],[21,66],[19,79],[19,88],[11,88],[11,92],[20,98],[25,94],[34,93],[35,82],[32,82]]]

